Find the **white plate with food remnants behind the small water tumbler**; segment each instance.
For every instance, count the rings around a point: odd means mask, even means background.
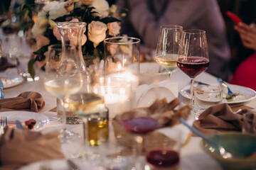
[[[252,101],[256,97],[256,92],[250,88],[247,88],[244,86],[238,86],[234,84],[229,84],[228,86],[230,87],[231,91],[233,91],[233,93],[238,93],[239,95],[235,96],[233,101],[227,101],[223,99],[223,103],[228,103],[228,104],[243,103],[246,101]],[[191,99],[190,87],[191,86],[186,86],[180,91],[181,95],[188,99]],[[227,91],[228,91],[227,89],[223,91],[224,97],[227,96]]]

